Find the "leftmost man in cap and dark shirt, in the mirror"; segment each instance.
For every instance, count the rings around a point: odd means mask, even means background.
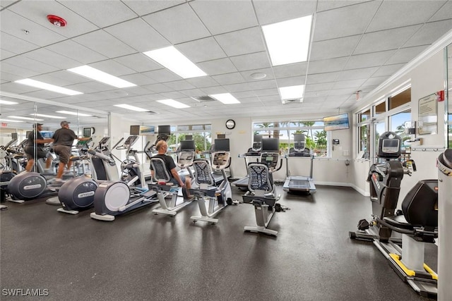
[[[35,165],[35,158],[38,160],[40,158],[46,158],[45,161],[45,172],[50,172],[50,165],[52,164],[52,156],[50,153],[44,149],[44,143],[53,142],[53,139],[44,139],[41,135],[42,123],[34,123],[33,130],[28,134],[27,145],[25,146],[25,154],[27,155],[27,166],[25,166],[26,171],[31,171],[33,165]]]

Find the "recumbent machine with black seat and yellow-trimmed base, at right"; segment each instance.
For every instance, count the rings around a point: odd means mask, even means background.
[[[403,281],[420,295],[436,297],[438,275],[424,263],[424,245],[438,238],[438,180],[420,180],[396,212],[403,175],[410,176],[410,165],[416,170],[412,160],[398,161],[401,142],[393,132],[379,138],[378,157],[386,161],[373,164],[367,178],[372,219],[360,220],[358,231],[349,235],[374,242]]]

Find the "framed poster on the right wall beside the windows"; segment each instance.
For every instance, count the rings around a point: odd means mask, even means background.
[[[419,99],[419,135],[438,133],[438,106],[436,94]]]

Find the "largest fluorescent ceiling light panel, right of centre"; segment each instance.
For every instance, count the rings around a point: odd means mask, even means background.
[[[307,61],[312,16],[262,26],[273,66]]]

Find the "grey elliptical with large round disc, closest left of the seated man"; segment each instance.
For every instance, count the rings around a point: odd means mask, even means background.
[[[138,136],[127,137],[124,145],[116,149],[125,149],[127,156],[133,155],[134,159],[126,159],[121,163],[121,180],[107,180],[98,185],[94,194],[94,212],[90,214],[92,219],[99,221],[114,221],[115,216],[138,209],[148,204],[157,202],[156,193],[148,190],[143,175],[143,168],[138,158],[138,151],[131,149]],[[145,149],[148,147],[145,145]],[[100,156],[96,154],[96,156]],[[107,159],[107,158],[105,158]],[[127,171],[126,171],[127,170]],[[125,175],[125,176],[124,176]]]

